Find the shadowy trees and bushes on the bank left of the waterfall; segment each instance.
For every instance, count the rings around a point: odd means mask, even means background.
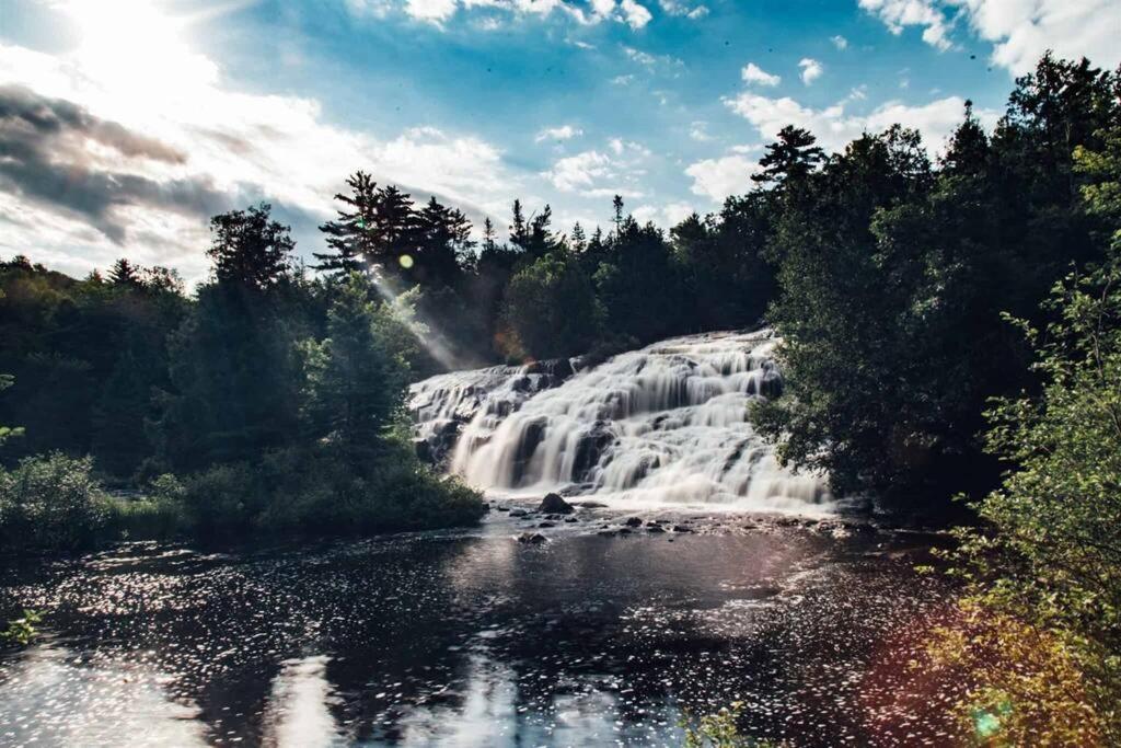
[[[191,296],[127,260],[84,280],[0,264],[0,545],[476,520],[479,496],[421,465],[401,426],[426,332],[409,297],[309,278],[268,205],[211,228]]]

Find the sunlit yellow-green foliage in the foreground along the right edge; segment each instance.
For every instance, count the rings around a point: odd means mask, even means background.
[[[1009,745],[1121,741],[1121,129],[1080,149],[1083,195],[1102,220],[1102,264],[1056,284],[1037,330],[1036,396],[1000,398],[988,449],[1010,465],[957,530],[963,622],[933,643],[975,682],[963,714],[1007,703]]]

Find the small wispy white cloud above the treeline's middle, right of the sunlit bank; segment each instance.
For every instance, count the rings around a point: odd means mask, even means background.
[[[603,150],[592,149],[559,158],[543,174],[560,192],[585,197],[623,195],[640,197],[639,181],[650,150],[640,144],[612,138]]]

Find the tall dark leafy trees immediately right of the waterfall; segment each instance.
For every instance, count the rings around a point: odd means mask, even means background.
[[[788,386],[756,416],[785,460],[907,502],[997,483],[985,403],[1032,386],[1000,315],[1045,321],[1039,302],[1069,264],[1102,259],[1072,151],[1100,151],[1117,80],[1045,57],[991,140],[967,108],[941,169],[899,128],[817,170],[776,151],[769,317]]]

